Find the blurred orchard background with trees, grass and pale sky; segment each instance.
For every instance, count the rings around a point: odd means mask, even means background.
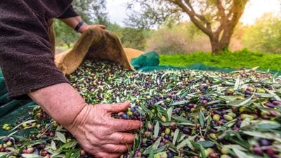
[[[90,24],[107,25],[124,47],[156,51],[161,65],[281,70],[280,0],[74,0]],[[79,37],[55,21],[57,52]]]

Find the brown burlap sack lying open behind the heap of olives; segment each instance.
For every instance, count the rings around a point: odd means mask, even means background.
[[[136,58],[141,54],[143,54],[142,51],[123,48],[119,38],[113,32],[96,27],[81,34],[72,50],[55,55],[55,65],[63,71],[63,74],[71,74],[84,58],[87,58],[117,62],[124,68],[133,70],[130,64],[131,58]]]

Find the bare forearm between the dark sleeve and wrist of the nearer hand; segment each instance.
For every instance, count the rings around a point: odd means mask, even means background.
[[[87,105],[79,93],[65,83],[47,86],[28,95],[63,126],[70,126]]]

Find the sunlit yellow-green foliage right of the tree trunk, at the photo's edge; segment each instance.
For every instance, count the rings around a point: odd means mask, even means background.
[[[271,13],[264,14],[254,25],[247,27],[242,41],[253,51],[281,53],[281,19]]]

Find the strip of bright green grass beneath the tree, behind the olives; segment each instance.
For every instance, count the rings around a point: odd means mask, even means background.
[[[247,51],[226,52],[222,55],[197,52],[190,54],[160,55],[160,65],[185,67],[201,62],[207,66],[252,68],[259,67],[263,70],[281,71],[281,54],[257,53]]]

